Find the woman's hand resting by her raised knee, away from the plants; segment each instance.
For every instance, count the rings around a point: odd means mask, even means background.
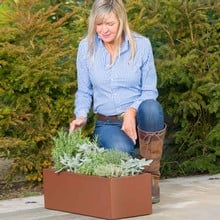
[[[134,144],[136,144],[137,140],[137,132],[136,132],[136,112],[135,108],[128,108],[123,117],[123,124],[121,130],[124,131],[128,137],[132,139]]]

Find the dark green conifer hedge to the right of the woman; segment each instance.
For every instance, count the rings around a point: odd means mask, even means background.
[[[128,1],[128,9],[155,54],[169,127],[162,174],[220,172],[219,2]]]

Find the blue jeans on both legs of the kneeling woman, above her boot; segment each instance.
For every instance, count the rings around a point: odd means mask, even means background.
[[[144,131],[154,132],[164,128],[163,109],[158,101],[145,100],[137,111],[137,126]],[[135,145],[122,130],[122,121],[96,121],[94,136],[100,147],[117,149],[134,156]]]

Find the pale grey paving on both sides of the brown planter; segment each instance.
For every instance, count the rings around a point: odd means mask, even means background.
[[[0,201],[1,220],[97,220],[44,208],[44,197]],[[161,180],[161,202],[153,214],[127,220],[219,220],[220,174]],[[125,219],[124,219],[125,220]]]

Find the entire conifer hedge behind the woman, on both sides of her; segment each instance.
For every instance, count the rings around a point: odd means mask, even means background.
[[[11,174],[42,181],[51,166],[51,137],[72,118],[76,51],[92,2],[0,3],[0,152],[13,159]],[[162,175],[220,172],[219,1],[125,3],[131,28],[154,50],[169,127]]]

